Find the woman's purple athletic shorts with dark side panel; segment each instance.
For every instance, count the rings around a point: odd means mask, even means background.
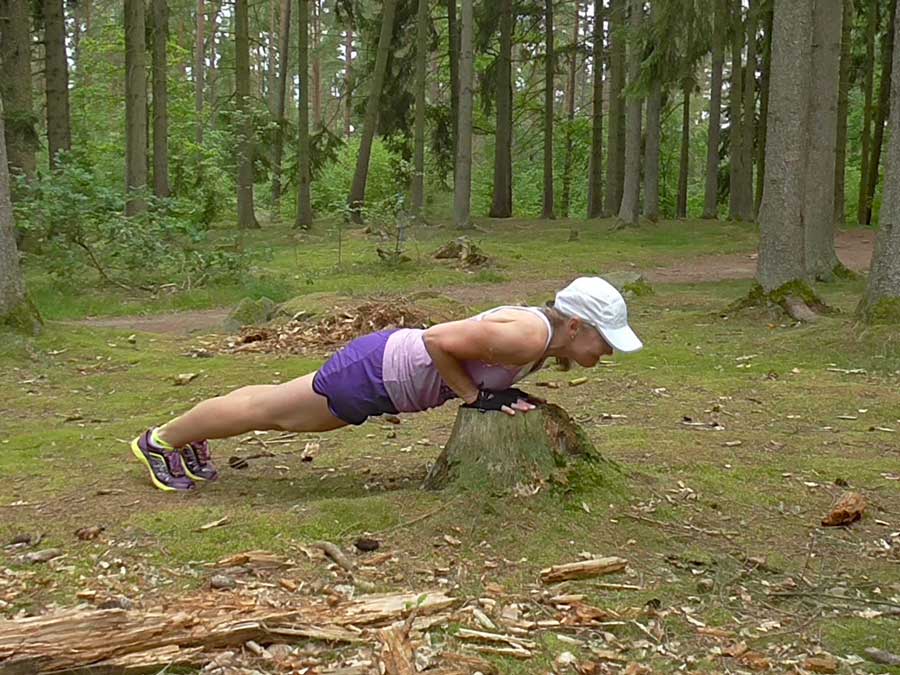
[[[362,424],[370,415],[397,413],[381,374],[384,346],[393,332],[356,338],[315,374],[313,391],[328,399],[332,415],[348,424]]]

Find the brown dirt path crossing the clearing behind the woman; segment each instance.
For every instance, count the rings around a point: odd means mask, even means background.
[[[835,240],[838,257],[850,269],[861,272],[869,269],[873,230],[839,232]],[[750,279],[756,273],[756,254],[706,255],[682,260],[676,265],[660,265],[642,270],[652,283],[700,283],[719,279]],[[457,286],[445,290],[445,294],[466,305],[484,304],[486,298],[497,302],[516,303],[544,293],[549,299],[567,279],[540,279],[506,282],[485,286]],[[171,312],[152,316],[120,316],[104,319],[84,319],[63,323],[97,328],[115,328],[146,333],[211,333],[219,329],[228,316],[228,309],[203,309],[188,312]]]

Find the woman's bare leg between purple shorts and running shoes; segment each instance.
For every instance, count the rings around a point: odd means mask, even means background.
[[[192,441],[228,438],[248,431],[331,431],[347,423],[331,414],[328,399],[313,391],[315,373],[284,384],[241,387],[198,403],[157,430],[173,448]]]

